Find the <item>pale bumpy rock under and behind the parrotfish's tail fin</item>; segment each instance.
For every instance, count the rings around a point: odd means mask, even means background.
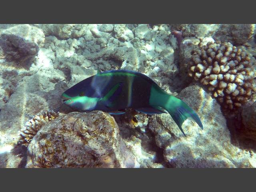
[[[231,144],[226,120],[216,100],[198,86],[185,88],[178,97],[196,111],[204,130],[186,120],[182,127],[188,137],[184,137],[170,115],[162,114],[150,120],[149,128],[170,167],[250,167],[254,164],[255,155]]]

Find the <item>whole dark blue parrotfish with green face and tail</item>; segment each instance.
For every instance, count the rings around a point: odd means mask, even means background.
[[[133,108],[146,114],[172,116],[182,133],[182,124],[192,118],[203,129],[200,118],[185,102],[162,90],[148,76],[128,70],[98,72],[75,84],[62,94],[62,102],[76,110],[102,110],[110,114],[124,114]]]

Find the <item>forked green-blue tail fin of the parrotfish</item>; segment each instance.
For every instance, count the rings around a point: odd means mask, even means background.
[[[186,134],[182,130],[182,124],[189,117],[192,118],[198,124],[198,126],[203,129],[203,124],[194,110],[192,110],[182,100],[171,95],[169,96],[170,98],[168,99],[168,102],[165,104],[164,108],[172,116],[174,122],[176,122],[184,136],[186,136]]]

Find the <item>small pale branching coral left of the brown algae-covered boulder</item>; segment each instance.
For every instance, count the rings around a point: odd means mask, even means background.
[[[46,111],[42,114],[35,115],[32,119],[26,122],[24,128],[20,130],[19,144],[28,145],[32,138],[37,134],[40,128],[46,124],[46,122],[57,118],[60,112]]]

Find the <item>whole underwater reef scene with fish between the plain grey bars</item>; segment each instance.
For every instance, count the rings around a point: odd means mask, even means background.
[[[256,168],[255,24],[0,24],[0,168]]]

